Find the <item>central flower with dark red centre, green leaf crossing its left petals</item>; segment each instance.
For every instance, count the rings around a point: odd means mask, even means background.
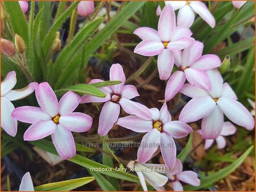
[[[105,102],[101,109],[100,120],[98,123],[99,135],[106,135],[114,126],[114,123],[117,122],[118,116],[120,114],[120,106],[128,114],[137,115],[143,119],[151,119],[150,110],[146,106],[130,100],[139,96],[139,93],[135,86],[125,85],[125,73],[123,73],[123,68],[120,64],[113,64],[111,66],[109,78],[110,81],[122,82],[118,85],[100,88],[100,90],[106,94],[105,98],[99,98],[92,95],[84,95],[81,99],[81,103]],[[96,79],[90,81],[90,84],[96,82],[103,81]]]

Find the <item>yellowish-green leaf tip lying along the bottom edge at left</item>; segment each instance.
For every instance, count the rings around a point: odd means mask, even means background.
[[[47,183],[35,187],[35,191],[71,191],[95,180],[94,177],[83,177],[75,180]]]

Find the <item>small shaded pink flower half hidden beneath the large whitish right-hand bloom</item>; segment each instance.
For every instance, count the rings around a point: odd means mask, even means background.
[[[217,143],[217,149],[223,149],[226,146],[226,140],[224,136],[234,135],[236,131],[237,129],[232,123],[224,122],[220,136],[218,136],[216,139],[205,139],[204,149],[209,149],[213,145],[214,140]],[[201,134],[201,130],[198,130],[197,132]]]

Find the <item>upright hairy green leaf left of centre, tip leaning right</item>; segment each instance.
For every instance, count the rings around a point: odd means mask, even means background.
[[[82,30],[77,33],[71,43],[60,52],[59,56],[54,62],[55,74],[60,74],[56,83],[56,87],[61,86],[61,84],[63,84],[65,79],[69,76],[69,61],[72,61],[76,53],[79,52],[79,50],[82,48],[82,45],[84,45],[90,36],[94,34],[94,32],[102,23],[102,20],[103,18],[98,18],[82,28]],[[79,62],[76,62],[76,64],[77,68],[79,68]]]

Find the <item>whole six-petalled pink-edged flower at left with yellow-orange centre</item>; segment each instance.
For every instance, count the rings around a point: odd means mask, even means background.
[[[58,102],[47,82],[36,87],[39,107],[22,106],[16,108],[12,116],[20,122],[31,123],[24,133],[24,140],[34,141],[51,135],[53,144],[64,159],[76,155],[76,146],[71,131],[85,132],[92,127],[92,118],[81,112],[73,112],[81,97],[68,91]]]

